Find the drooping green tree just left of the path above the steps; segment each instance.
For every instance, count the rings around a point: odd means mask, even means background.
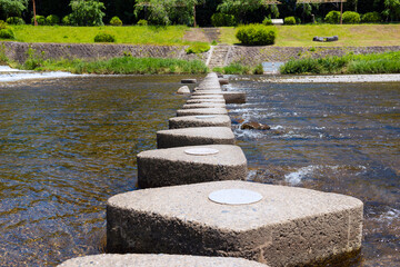
[[[156,24],[192,24],[196,4],[202,2],[203,0],[138,0],[134,14],[148,10],[150,14],[146,19]]]

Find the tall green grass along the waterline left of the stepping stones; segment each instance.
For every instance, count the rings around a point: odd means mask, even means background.
[[[160,58],[113,58],[109,60],[86,61],[74,60],[41,60],[30,57],[20,69],[37,71],[69,71],[72,73],[96,75],[184,75],[207,73],[208,68],[200,60],[179,60]]]

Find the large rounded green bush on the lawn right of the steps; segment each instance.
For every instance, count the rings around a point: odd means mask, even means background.
[[[263,24],[248,24],[239,27],[236,37],[248,46],[273,44],[277,30],[274,27]]]

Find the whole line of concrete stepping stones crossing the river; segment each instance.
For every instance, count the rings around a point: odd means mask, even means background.
[[[208,75],[157,132],[158,149],[137,156],[142,189],[108,200],[109,254],[60,266],[298,266],[359,251],[360,200],[246,181],[231,102],[246,95]]]

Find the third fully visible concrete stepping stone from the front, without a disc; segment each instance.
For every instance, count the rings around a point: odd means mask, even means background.
[[[234,135],[228,127],[194,127],[157,132],[157,148],[201,145],[234,145]]]

